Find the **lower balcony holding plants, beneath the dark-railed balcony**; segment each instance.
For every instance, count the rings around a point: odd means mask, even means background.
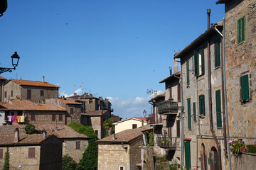
[[[157,137],[157,144],[162,148],[176,149],[177,137]]]

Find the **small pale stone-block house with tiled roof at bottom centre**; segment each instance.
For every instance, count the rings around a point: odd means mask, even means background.
[[[97,169],[137,169],[137,164],[142,163],[140,149],[143,145],[142,130],[146,129],[124,130],[97,140]]]

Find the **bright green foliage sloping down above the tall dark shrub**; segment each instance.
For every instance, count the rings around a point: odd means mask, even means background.
[[[81,134],[87,135],[87,137],[91,137],[93,140],[97,140],[97,135],[91,126],[84,126],[81,123],[73,122],[68,125],[70,128],[73,128],[75,132],[79,132]]]

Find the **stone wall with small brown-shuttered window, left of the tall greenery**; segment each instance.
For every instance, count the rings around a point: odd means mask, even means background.
[[[80,149],[76,149],[76,142],[80,141]],[[73,157],[75,162],[79,162],[80,159],[82,159],[82,154],[85,152],[85,149],[88,146],[88,140],[84,139],[77,139],[77,140],[69,140],[66,139],[65,142],[63,142],[63,156],[68,155],[70,157]]]

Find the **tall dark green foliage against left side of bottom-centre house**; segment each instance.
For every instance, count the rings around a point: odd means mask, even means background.
[[[80,159],[79,166],[85,170],[97,169],[97,144],[94,140],[89,140],[89,145],[82,154],[82,159]]]

